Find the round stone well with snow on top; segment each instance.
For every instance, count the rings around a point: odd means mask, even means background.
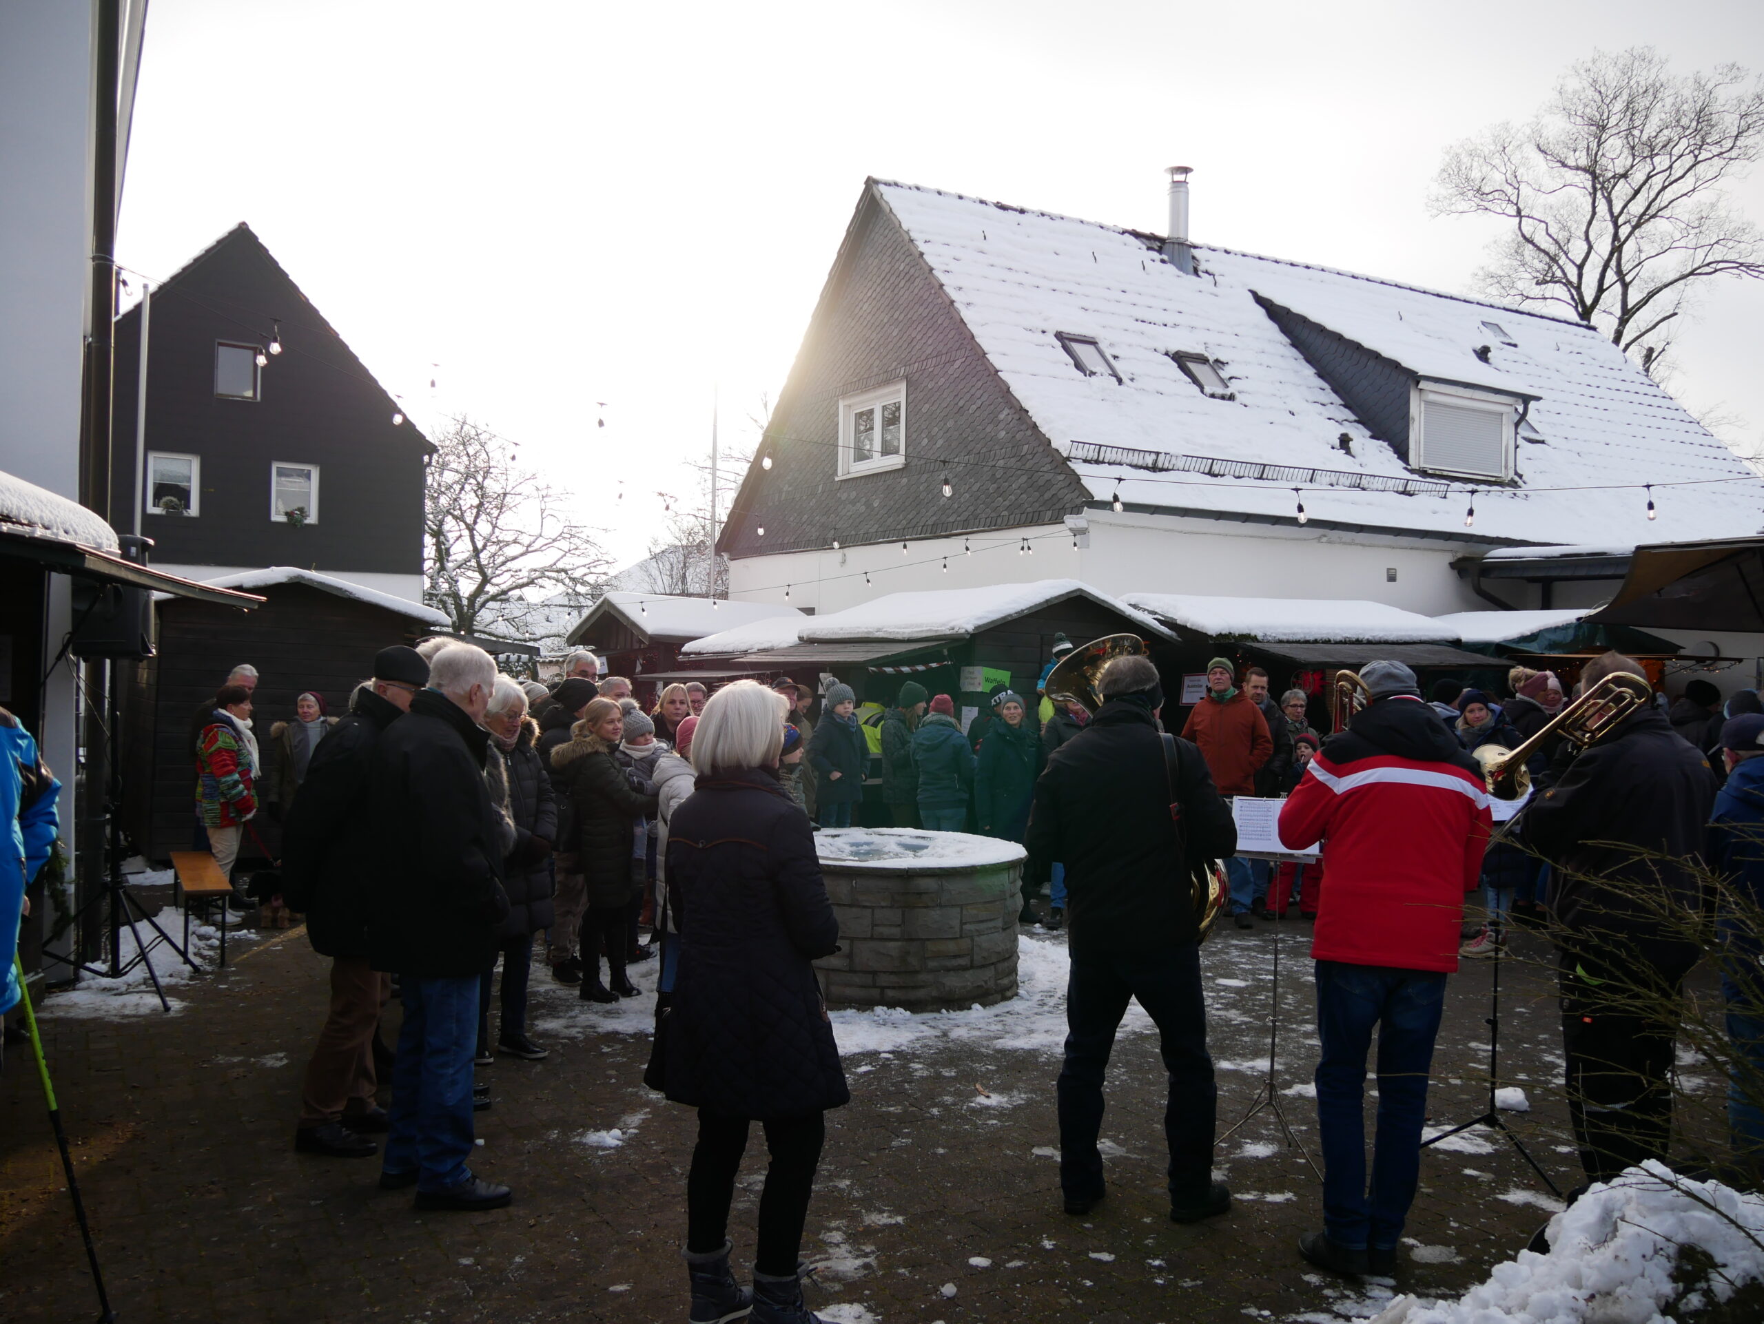
[[[1016,996],[1020,844],[901,827],[815,843],[843,948],[815,963],[829,1007],[937,1012]]]

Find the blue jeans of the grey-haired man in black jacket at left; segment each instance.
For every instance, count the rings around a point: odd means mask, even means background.
[[[478,975],[399,980],[404,1028],[392,1063],[385,1171],[418,1169],[416,1188],[471,1178],[471,1054],[478,1042]]]

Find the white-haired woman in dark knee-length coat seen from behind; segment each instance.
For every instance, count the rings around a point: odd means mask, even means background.
[[[679,975],[658,1026],[651,1082],[699,1109],[686,1179],[691,1319],[808,1324],[797,1252],[826,1137],[850,1100],[815,957],[838,950],[808,814],[778,785],[785,702],[753,681],[711,696],[691,739],[697,786],[669,823],[669,904]],[[760,1195],[753,1296],[729,1269],[729,1204],[760,1121],[771,1167]]]

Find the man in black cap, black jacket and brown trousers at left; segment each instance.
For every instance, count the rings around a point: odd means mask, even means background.
[[[367,1158],[362,1132],[386,1128],[374,1104],[374,1035],[392,980],[367,959],[367,889],[376,823],[367,809],[374,746],[429,684],[429,663],[402,643],[374,658],[374,679],[349,700],[307,767],[282,825],[282,896],[307,917],[312,950],[332,959],[332,1001],[300,1091],[295,1148]]]

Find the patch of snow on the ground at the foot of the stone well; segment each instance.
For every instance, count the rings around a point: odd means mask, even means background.
[[[900,1007],[833,1012],[833,1037],[841,1056],[905,1053],[963,1044],[984,1049],[1027,1049],[1058,1054],[1065,1045],[1065,977],[1071,961],[1065,934],[1016,940],[1016,996],[965,1012],[914,1014]],[[1120,1035],[1143,1035],[1152,1017],[1140,1003],[1127,1008]],[[1267,1065],[1258,1070],[1267,1070]]]

